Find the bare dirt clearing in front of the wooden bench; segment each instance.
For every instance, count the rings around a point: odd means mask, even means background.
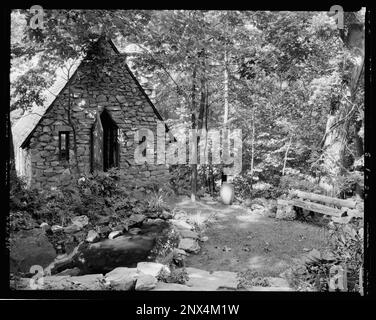
[[[207,226],[201,251],[187,258],[186,266],[207,271],[256,272],[278,277],[300,262],[303,254],[327,244],[324,228],[299,221],[281,221],[216,201],[192,203],[180,199],[175,207],[198,224]]]

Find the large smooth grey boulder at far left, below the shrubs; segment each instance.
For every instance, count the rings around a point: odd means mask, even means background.
[[[29,272],[33,265],[48,266],[57,254],[43,229],[22,230],[10,238],[10,272]]]

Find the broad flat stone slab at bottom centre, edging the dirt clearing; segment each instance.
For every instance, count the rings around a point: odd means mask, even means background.
[[[220,289],[236,290],[238,279],[235,272],[215,271],[210,273],[197,268],[186,268],[189,280],[186,285],[197,291],[215,291]]]

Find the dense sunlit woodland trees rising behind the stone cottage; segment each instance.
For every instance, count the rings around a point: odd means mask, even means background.
[[[325,12],[45,10],[44,29],[30,18],[12,13],[12,110],[41,104],[56,68],[105,34],[170,127],[242,129],[242,196],[260,181],[285,188],[289,169],[362,195],[364,11],[346,13],[344,29]],[[195,166],[175,172],[180,193],[216,191],[210,161],[198,178]]]

